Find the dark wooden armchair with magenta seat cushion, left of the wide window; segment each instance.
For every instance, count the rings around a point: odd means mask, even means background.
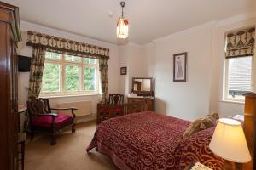
[[[57,114],[51,111],[65,111],[70,110],[72,116],[67,114]],[[75,132],[75,114],[76,108],[51,108],[49,99],[32,99],[27,101],[27,111],[30,120],[31,139],[34,137],[35,131],[44,131],[50,133],[51,145],[56,144],[55,135],[67,127],[72,127],[72,133]]]

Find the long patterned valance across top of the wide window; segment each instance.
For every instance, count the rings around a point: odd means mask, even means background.
[[[81,57],[109,59],[109,49],[66,38],[27,31],[26,46],[45,48],[48,51]]]

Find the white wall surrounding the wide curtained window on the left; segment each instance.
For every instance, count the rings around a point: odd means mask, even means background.
[[[110,49],[110,59],[108,59],[108,93],[119,93],[119,47],[108,42],[97,41],[88,37],[81,37],[78,35],[70,34],[64,31],[58,31],[44,26],[38,26],[32,23],[27,23],[21,21],[21,31],[22,31],[22,42],[19,43],[18,54],[31,56],[32,48],[26,47],[26,31],[39,31],[49,35],[54,35],[56,37],[65,37],[71,40],[79,42],[87,42],[102,46]],[[27,90],[25,87],[28,87],[28,77],[29,73],[19,73],[18,75],[18,84],[19,84],[19,104],[26,105],[27,100]],[[52,98],[50,103],[55,107],[58,103],[67,102],[67,101],[79,101],[79,100],[91,100],[93,104],[92,114],[96,114],[96,104],[100,99],[100,95],[84,95],[77,97],[61,97],[61,98]]]

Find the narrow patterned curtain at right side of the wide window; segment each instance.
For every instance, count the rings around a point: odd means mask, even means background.
[[[101,82],[102,82],[102,104],[108,102],[108,59],[99,59]]]

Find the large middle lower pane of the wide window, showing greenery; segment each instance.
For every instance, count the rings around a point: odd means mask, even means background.
[[[65,73],[65,90],[79,91],[79,66],[66,65]]]

